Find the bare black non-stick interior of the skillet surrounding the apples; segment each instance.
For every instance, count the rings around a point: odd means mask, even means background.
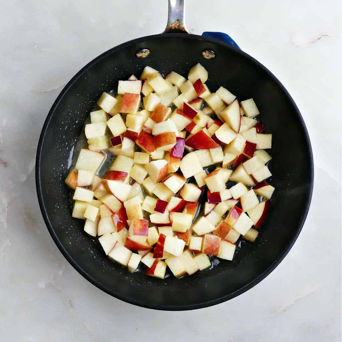
[[[150,49],[147,58],[136,52]],[[204,49],[215,58],[202,57]],[[200,62],[208,71],[211,91],[219,86],[240,100],[253,97],[267,132],[273,133],[270,182],[276,187],[271,207],[254,243],[243,242],[232,262],[221,260],[210,270],[161,280],[111,262],[97,239],[71,218],[70,190],[64,179],[84,119],[103,91],[120,79],[139,76],[146,65],[166,75],[186,76]],[[252,57],[209,38],[164,34],[124,43],[84,67],[63,89],[42,129],[36,163],[42,214],[58,248],[84,277],[103,291],[136,305],[160,310],[189,310],[214,305],[248,290],[285,257],[303,226],[310,205],[313,162],[303,119],[280,82]],[[295,267],[295,265],[293,265]],[[86,294],[85,294],[86,295]]]

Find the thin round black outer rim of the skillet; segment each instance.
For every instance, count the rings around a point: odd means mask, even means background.
[[[300,122],[300,124],[302,126],[302,129],[303,129],[304,137],[305,137],[305,140],[306,140],[306,143],[307,143],[307,146],[308,146],[308,159],[309,159],[309,163],[310,163],[310,175],[309,175],[310,187],[309,187],[309,193],[308,193],[308,197],[307,197],[306,206],[305,206],[305,208],[304,208],[304,210],[302,212],[301,219],[298,222],[298,227],[297,227],[296,233],[293,235],[292,239],[290,240],[288,245],[284,248],[284,250],[279,254],[278,258],[263,273],[261,273],[257,278],[255,278],[254,280],[252,280],[251,282],[249,282],[247,285],[245,285],[244,287],[240,288],[239,290],[237,290],[237,291],[235,291],[235,292],[233,292],[231,294],[227,294],[227,295],[224,295],[222,297],[219,297],[219,298],[207,301],[207,302],[200,302],[200,303],[197,303],[197,304],[184,304],[184,305],[163,305],[163,304],[154,305],[154,304],[149,304],[149,303],[142,302],[142,301],[139,301],[139,300],[133,300],[131,298],[126,298],[126,297],[120,295],[119,293],[115,293],[114,291],[112,291],[108,287],[106,287],[103,284],[101,284],[101,282],[99,282],[98,280],[93,278],[90,274],[88,274],[86,271],[84,271],[77,264],[77,262],[66,251],[66,249],[64,248],[62,242],[58,239],[57,235],[55,234],[54,228],[53,228],[53,226],[52,226],[52,224],[50,222],[50,219],[48,217],[48,213],[47,213],[47,211],[45,209],[45,205],[44,205],[44,201],[43,201],[43,196],[42,196],[41,182],[40,182],[40,178],[41,178],[40,161],[41,161],[42,145],[43,145],[43,142],[44,142],[44,139],[45,139],[45,134],[47,132],[47,128],[48,128],[48,126],[50,124],[50,121],[52,119],[52,116],[54,114],[54,111],[55,111],[56,107],[58,106],[58,104],[62,100],[62,97],[65,95],[65,93],[68,91],[68,89],[72,86],[72,84],[83,74],[84,71],[86,71],[94,63],[99,62],[102,58],[106,57],[108,54],[111,54],[111,53],[115,52],[116,50],[119,50],[121,48],[127,47],[127,46],[132,45],[132,44],[136,44],[136,43],[143,42],[143,41],[146,41],[146,40],[155,40],[155,39],[166,38],[166,37],[202,40],[202,41],[214,43],[214,44],[217,44],[217,45],[221,45],[221,46],[223,46],[225,48],[233,50],[237,54],[240,54],[240,55],[244,56],[245,58],[250,60],[252,63],[254,63],[257,67],[259,67],[262,70],[264,70],[265,73],[269,75],[269,77],[277,84],[277,86],[285,94],[285,96],[290,101],[292,107],[294,108],[295,112],[297,113],[299,122]],[[47,118],[44,121],[42,130],[41,130],[41,133],[40,133],[40,136],[39,136],[38,147],[37,147],[35,178],[36,178],[36,189],[37,189],[37,196],[38,196],[39,207],[40,207],[40,210],[41,210],[41,213],[42,213],[45,225],[47,226],[48,231],[49,231],[53,241],[55,242],[57,248],[61,251],[61,253],[66,258],[66,260],[71,264],[71,266],[73,266],[76,269],[76,271],[79,274],[81,274],[84,278],[86,278],[89,282],[91,282],[91,284],[93,284],[94,286],[96,286],[100,290],[102,290],[102,291],[106,292],[107,294],[109,294],[109,295],[111,295],[111,296],[113,296],[113,297],[115,297],[115,298],[117,298],[119,300],[122,300],[122,301],[124,301],[126,303],[137,305],[137,306],[144,307],[144,308],[155,309],[155,310],[185,311],[185,310],[195,310],[195,309],[199,309],[199,308],[205,308],[205,307],[209,307],[209,306],[212,306],[212,305],[220,304],[220,303],[223,303],[223,302],[225,302],[227,300],[233,299],[233,298],[237,297],[238,295],[240,295],[240,294],[246,292],[247,290],[251,289],[255,285],[259,284],[260,281],[262,281],[272,271],[274,271],[274,269],[286,257],[286,255],[288,254],[288,252],[290,251],[290,249],[294,245],[294,243],[297,240],[297,238],[298,238],[298,236],[299,236],[299,234],[300,234],[300,232],[301,232],[301,230],[303,228],[303,225],[305,223],[305,220],[306,220],[309,208],[310,208],[311,199],[312,199],[312,193],[313,193],[314,164],[313,164],[313,152],[312,152],[312,146],[311,146],[311,142],[310,142],[310,137],[308,135],[307,128],[305,126],[303,117],[302,117],[302,115],[301,115],[297,105],[293,101],[291,95],[289,94],[289,92],[286,90],[286,88],[282,85],[282,83],[276,78],[276,76],[271,71],[269,71],[264,65],[262,65],[260,62],[255,60],[255,58],[253,58],[249,54],[247,54],[247,53],[245,53],[245,52],[243,52],[243,51],[233,47],[232,45],[230,45],[228,43],[224,43],[224,42],[222,42],[220,40],[216,40],[216,39],[212,39],[212,38],[207,38],[207,37],[202,37],[202,36],[198,36],[198,35],[192,35],[192,34],[168,33],[168,34],[158,34],[158,35],[151,35],[151,36],[145,36],[145,37],[141,37],[141,38],[136,38],[136,39],[124,42],[124,43],[122,43],[120,45],[117,45],[116,47],[111,48],[111,49],[105,51],[104,53],[100,54],[99,56],[95,57],[92,61],[90,61],[82,69],[80,69],[78,71],[78,73],[75,74],[75,76],[73,78],[70,79],[70,81],[66,84],[66,86],[63,88],[63,90],[57,96],[56,100],[54,101],[53,105],[51,106],[51,109],[49,110]]]

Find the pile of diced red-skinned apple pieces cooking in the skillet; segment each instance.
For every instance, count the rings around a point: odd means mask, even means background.
[[[164,278],[168,267],[180,277],[208,268],[209,256],[232,260],[237,240],[254,241],[265,219],[272,134],[252,98],[212,93],[207,79],[201,64],[187,79],[146,66],[90,113],[88,148],[65,180],[75,190],[72,216],[130,272],[145,265]],[[103,172],[105,150],[116,157]]]

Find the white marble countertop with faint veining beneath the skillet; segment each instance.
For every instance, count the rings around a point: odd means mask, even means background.
[[[341,341],[341,3],[188,0],[188,28],[223,31],[289,90],[308,128],[315,186],[303,231],[260,284],[188,312],[110,297],[51,239],[35,156],[63,85],[98,54],[161,32],[167,1],[7,1],[1,18],[1,341]]]

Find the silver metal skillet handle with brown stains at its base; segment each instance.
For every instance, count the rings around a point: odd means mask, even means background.
[[[169,0],[168,23],[162,33],[190,33],[185,25],[185,0]]]

